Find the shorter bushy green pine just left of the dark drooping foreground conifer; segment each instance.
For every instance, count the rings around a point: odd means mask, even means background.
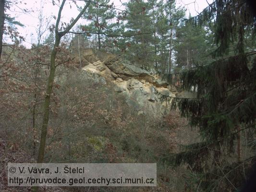
[[[210,27],[193,27],[191,22],[185,22],[176,34],[174,73],[207,65],[213,61],[210,54],[215,47],[212,45]]]

